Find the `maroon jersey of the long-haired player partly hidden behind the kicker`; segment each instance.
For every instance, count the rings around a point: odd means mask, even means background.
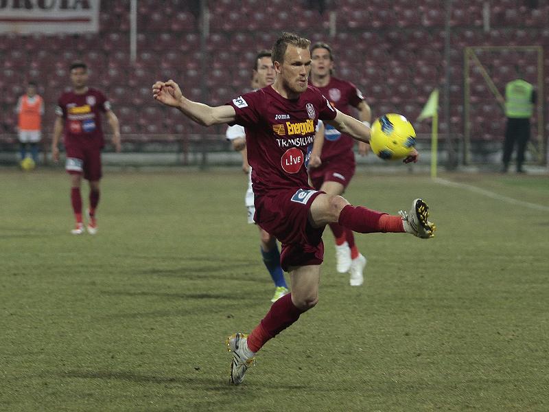
[[[358,107],[360,102],[364,100],[360,90],[351,82],[345,82],[338,78],[331,77],[329,83],[325,87],[318,87],[329,102],[339,111],[346,115],[351,115],[349,106]],[[325,124],[324,146],[322,148],[322,161],[334,159],[339,155],[353,150],[354,139],[343,133],[339,133],[336,128]]]

